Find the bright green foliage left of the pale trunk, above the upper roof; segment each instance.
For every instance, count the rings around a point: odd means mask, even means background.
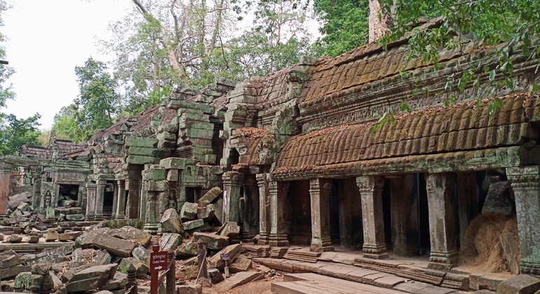
[[[322,22],[319,55],[335,57],[367,43],[367,0],[315,0],[313,8]]]

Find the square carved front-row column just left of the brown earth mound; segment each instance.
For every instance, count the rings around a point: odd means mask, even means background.
[[[457,265],[454,220],[455,174],[426,174],[431,255],[428,268],[448,271]]]

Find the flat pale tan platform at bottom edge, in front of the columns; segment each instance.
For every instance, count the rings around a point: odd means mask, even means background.
[[[320,274],[285,274],[283,282],[272,283],[271,291],[277,294],[328,293],[328,294],[398,294],[397,290],[363,285]]]

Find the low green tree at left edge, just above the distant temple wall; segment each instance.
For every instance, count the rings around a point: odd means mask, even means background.
[[[39,113],[26,119],[9,114],[0,125],[0,155],[20,155],[22,145],[39,146]]]

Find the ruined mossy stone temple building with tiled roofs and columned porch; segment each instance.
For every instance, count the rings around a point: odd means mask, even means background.
[[[537,63],[513,53],[514,90],[483,87],[504,80],[499,74],[480,73],[478,93],[447,83],[480,61],[494,69],[495,50],[464,43],[440,52],[436,69],[406,59],[404,38],[387,50],[371,43],[268,76],[180,89],[84,144],[53,136],[48,148],[1,158],[0,214],[26,188],[40,211],[141,218],[159,234],[163,211],[218,186],[220,221],[259,245],[349,248],[374,259],[427,254],[431,269],[447,271],[460,262],[469,225],[492,211],[517,228],[517,241],[501,244],[518,250],[508,267],[540,274],[540,99],[529,91],[540,83]],[[377,125],[384,113],[395,121]],[[498,183],[508,194],[500,201],[489,193]]]

